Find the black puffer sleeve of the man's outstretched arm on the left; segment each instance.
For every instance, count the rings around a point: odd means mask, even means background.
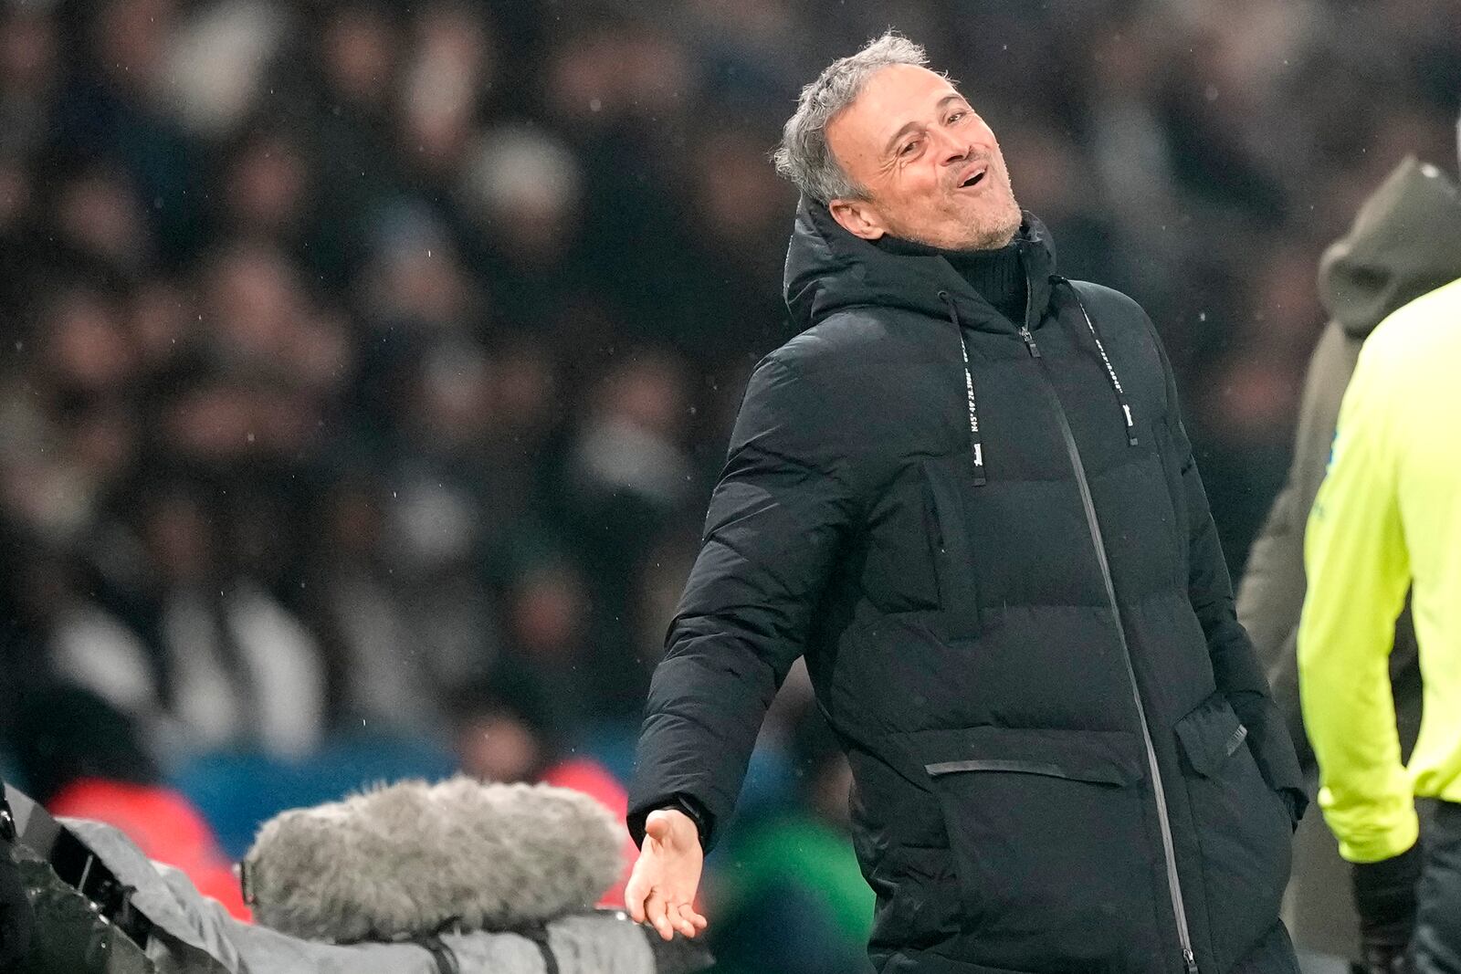
[[[735,806],[852,517],[833,413],[795,364],[773,356],[751,377],[650,683],[630,784],[636,841],[650,810],[684,797],[706,813],[709,847]]]

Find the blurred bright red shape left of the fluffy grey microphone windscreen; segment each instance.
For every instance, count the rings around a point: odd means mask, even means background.
[[[205,897],[218,900],[235,919],[253,921],[232,864],[219,847],[213,829],[172,789],[77,778],[56,794],[50,802],[50,812],[114,825],[148,859],[181,869]]]

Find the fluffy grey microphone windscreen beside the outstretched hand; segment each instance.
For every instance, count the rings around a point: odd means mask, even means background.
[[[618,821],[542,784],[403,781],[266,822],[244,859],[254,920],[311,940],[507,930],[592,908]]]

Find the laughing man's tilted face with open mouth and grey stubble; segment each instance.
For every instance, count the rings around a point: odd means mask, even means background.
[[[947,77],[893,64],[827,126],[827,145],[862,199],[828,203],[852,234],[945,250],[993,250],[1020,229],[999,142]]]

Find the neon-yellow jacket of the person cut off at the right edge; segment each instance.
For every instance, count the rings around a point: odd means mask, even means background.
[[[1360,350],[1305,537],[1299,692],[1319,806],[1350,862],[1416,843],[1413,796],[1461,802],[1461,280]],[[1424,683],[1400,761],[1388,657],[1411,588]]]

